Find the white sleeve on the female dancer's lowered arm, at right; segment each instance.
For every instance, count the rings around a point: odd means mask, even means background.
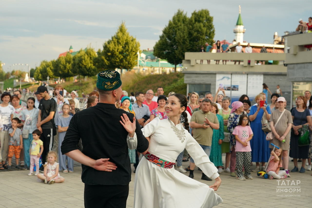
[[[185,146],[185,149],[193,158],[195,165],[198,166],[206,176],[213,179],[219,177],[218,169],[210,161],[206,152],[202,149],[198,142],[191,136],[191,134],[186,134],[186,136],[187,144]]]

